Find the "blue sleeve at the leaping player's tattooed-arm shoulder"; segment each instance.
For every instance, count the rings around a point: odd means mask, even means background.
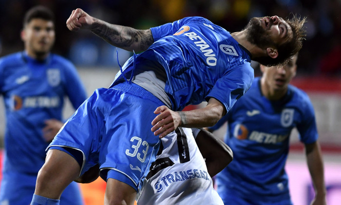
[[[189,21],[204,21],[202,17],[186,17],[184,19],[174,21],[172,23],[166,23],[160,26],[152,27],[152,36],[154,41],[157,41],[163,37],[171,36],[179,31],[179,29],[188,23]]]

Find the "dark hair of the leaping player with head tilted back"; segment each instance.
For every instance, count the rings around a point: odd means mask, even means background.
[[[261,57],[254,59],[255,61],[260,62],[266,66],[276,66],[281,64],[286,64],[290,58],[297,54],[303,45],[303,40],[305,40],[305,27],[304,23],[306,21],[306,17],[302,20],[300,17],[293,15],[291,19],[287,18],[285,20],[292,30],[292,38],[288,39],[288,41],[284,42],[280,45],[275,45],[278,50],[278,57],[275,59],[269,57]]]

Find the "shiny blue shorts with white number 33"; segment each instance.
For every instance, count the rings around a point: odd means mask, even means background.
[[[159,99],[135,84],[97,89],[64,124],[50,146],[81,151],[80,175],[99,164],[104,180],[111,170],[110,178],[138,191],[160,146],[151,129],[156,117],[153,112],[161,105]]]

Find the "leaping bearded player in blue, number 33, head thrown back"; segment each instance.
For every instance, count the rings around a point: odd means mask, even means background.
[[[88,29],[114,46],[144,52],[134,54],[110,88],[96,90],[65,123],[50,144],[32,204],[58,200],[67,184],[95,164],[107,182],[105,204],[133,204],[159,138],[178,126],[217,123],[250,87],[251,59],[279,64],[300,50],[304,21],[253,18],[230,34],[205,18],[188,17],[136,30],[74,10],[70,30]],[[181,111],[205,100],[204,108]]]

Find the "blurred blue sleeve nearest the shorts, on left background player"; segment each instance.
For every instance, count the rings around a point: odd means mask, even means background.
[[[79,105],[81,105],[87,99],[87,94],[77,73],[76,67],[71,62],[67,63],[65,73],[66,93],[73,107],[77,109]]]

